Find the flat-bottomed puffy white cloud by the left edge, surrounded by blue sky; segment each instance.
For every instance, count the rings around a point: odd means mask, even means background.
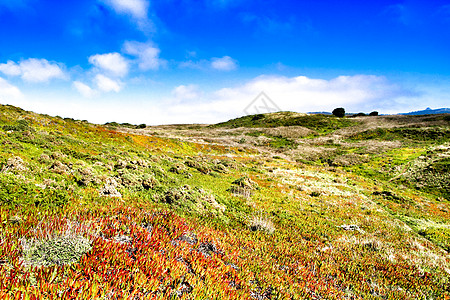
[[[0,72],[9,76],[21,76],[28,82],[48,82],[54,78],[65,79],[67,76],[63,72],[64,65],[49,62],[46,59],[29,58],[19,63],[8,61],[0,64]]]

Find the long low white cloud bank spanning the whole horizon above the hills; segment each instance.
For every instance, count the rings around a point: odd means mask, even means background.
[[[414,81],[414,84],[406,80],[399,86],[384,77],[367,75],[332,79],[259,76],[240,85],[212,91],[210,86],[190,84],[176,85],[172,90],[167,90],[153,83],[151,92],[146,89],[144,92],[130,90],[117,93],[122,90],[122,83],[98,74],[92,84],[86,84],[95,92],[95,101],[81,98],[75,93],[60,95],[53,91],[30,93],[23,101],[12,98],[8,101],[42,113],[87,119],[96,123],[117,121],[155,125],[217,123],[240,117],[261,91],[281,110],[297,112],[332,111],[336,107],[344,107],[348,112],[377,110],[380,113],[396,113],[427,106],[445,107],[449,103],[448,80],[429,80],[421,82],[421,85],[417,82],[420,80]],[[430,87],[430,82],[434,86]],[[0,91],[3,89],[9,94],[20,95],[17,89],[10,88],[11,85],[5,85],[5,81],[0,80]],[[7,98],[0,99],[6,101]]]

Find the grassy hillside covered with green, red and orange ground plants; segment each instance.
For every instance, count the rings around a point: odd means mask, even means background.
[[[0,106],[0,299],[449,299],[449,127]]]

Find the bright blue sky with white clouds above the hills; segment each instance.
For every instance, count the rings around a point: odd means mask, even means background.
[[[0,0],[0,103],[167,124],[450,106],[450,1]]]

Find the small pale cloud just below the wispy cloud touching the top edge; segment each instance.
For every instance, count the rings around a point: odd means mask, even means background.
[[[123,51],[137,57],[139,69],[143,71],[158,70],[167,64],[167,61],[159,58],[161,50],[151,43],[127,41],[123,46]]]

